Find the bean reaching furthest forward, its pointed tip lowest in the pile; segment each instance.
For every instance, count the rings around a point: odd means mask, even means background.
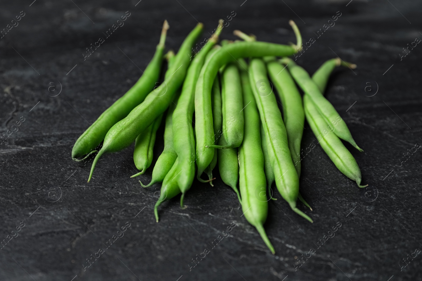
[[[275,250],[268,239],[263,224],[267,219],[268,200],[265,192],[264,155],[261,150],[260,115],[251,91],[243,91],[244,132],[239,147],[239,187],[242,211],[273,254]]]

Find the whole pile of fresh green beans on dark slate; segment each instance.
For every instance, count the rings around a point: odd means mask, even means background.
[[[263,226],[268,201],[277,200],[271,190],[273,183],[288,205],[280,200],[273,204],[288,206],[313,222],[299,209],[303,206],[297,206],[299,199],[312,211],[299,192],[305,120],[341,173],[359,187],[367,186],[361,185],[360,168],[341,139],[363,150],[323,94],[335,67],[356,65],[330,59],[311,77],[288,57],[302,48],[298,27],[293,21],[289,24],[296,45],[260,42],[239,30],[233,33],[243,41],[222,40],[217,45],[223,28],[220,20],[205,45],[192,54],[192,46],[203,30],[203,24],[198,23],[177,54],[168,51],[163,55],[169,28],[165,21],[160,43],[141,78],[73,146],[75,161],[89,161],[88,156],[97,153],[88,182],[103,154],[134,144],[133,163],[139,172],[131,177],[140,176],[142,187],[162,182],[154,205],[157,222],[158,207],[163,202],[181,194],[180,207],[187,208],[184,198],[193,185],[209,183],[212,187],[208,188],[218,188],[214,184],[221,179],[236,194],[227,193],[233,196],[232,207],[240,204],[246,221],[256,228],[273,254],[274,246]],[[164,80],[155,86],[164,57],[168,61]],[[165,124],[161,125],[164,116]],[[155,140],[161,138],[157,136],[160,126],[164,126],[164,149],[152,165],[153,154],[157,153]],[[102,148],[97,150],[101,142]],[[152,172],[146,173],[151,165]],[[149,183],[144,185],[146,180]]]

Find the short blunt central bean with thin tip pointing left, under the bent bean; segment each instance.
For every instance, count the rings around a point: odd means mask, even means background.
[[[239,147],[243,139],[243,96],[240,73],[235,63],[228,63],[222,71],[221,98],[224,146],[219,144],[210,147]]]

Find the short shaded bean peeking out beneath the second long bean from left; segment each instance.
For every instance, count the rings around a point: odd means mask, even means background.
[[[133,162],[136,169],[140,170],[139,173],[134,174],[132,177],[137,177],[145,173],[146,169],[151,166],[152,157],[154,152],[155,138],[157,130],[160,127],[162,114],[158,116],[154,122],[146,128],[135,139],[135,149],[133,150]]]

